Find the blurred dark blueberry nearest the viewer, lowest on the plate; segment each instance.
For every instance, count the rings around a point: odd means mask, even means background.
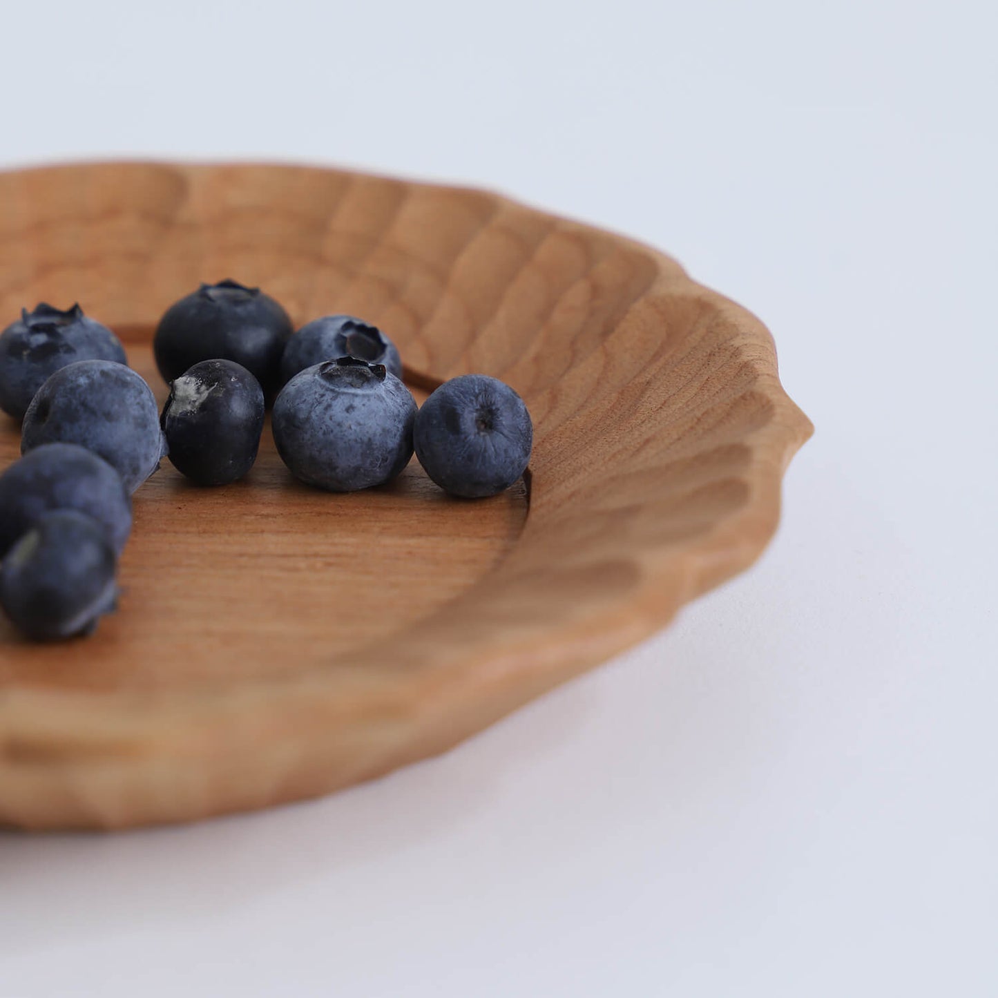
[[[90,634],[117,606],[115,568],[99,523],[76,510],[43,513],[0,565],[0,604],[35,641]]]

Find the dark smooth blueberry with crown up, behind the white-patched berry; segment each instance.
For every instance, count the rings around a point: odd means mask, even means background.
[[[202,284],[167,309],[153,351],[168,383],[202,360],[221,358],[242,364],[270,394],[280,383],[280,355],[291,331],[273,298],[258,287],[222,280]]]

